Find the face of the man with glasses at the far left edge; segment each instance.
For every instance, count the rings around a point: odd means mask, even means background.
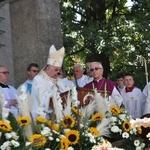
[[[0,67],[0,82],[6,84],[8,81],[8,70],[5,67]]]

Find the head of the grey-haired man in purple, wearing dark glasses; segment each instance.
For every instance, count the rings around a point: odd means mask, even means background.
[[[91,64],[90,65],[90,71],[92,77],[94,77],[95,80],[99,80],[103,76],[103,68],[99,66],[99,64]]]

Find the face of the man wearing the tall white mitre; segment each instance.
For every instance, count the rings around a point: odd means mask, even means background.
[[[60,72],[61,72],[61,67],[48,66],[46,69],[46,73],[53,79],[56,79],[59,76],[58,73]]]

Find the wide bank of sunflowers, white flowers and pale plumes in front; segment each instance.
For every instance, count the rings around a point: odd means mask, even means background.
[[[47,118],[44,108],[39,107],[34,121],[29,115],[30,110],[25,109],[29,104],[24,91],[22,89],[22,95],[18,97],[20,116],[14,118],[5,111],[7,113],[2,113],[5,117],[0,118],[2,150],[117,150],[108,140],[120,139],[130,141],[130,148],[124,146],[125,149],[144,148],[138,136],[141,130],[132,126],[132,118],[127,112],[115,105],[109,106],[107,99],[96,91],[94,100],[83,107],[77,105],[75,89],[74,97],[68,96],[64,107],[61,106],[61,97],[55,92],[53,113]]]

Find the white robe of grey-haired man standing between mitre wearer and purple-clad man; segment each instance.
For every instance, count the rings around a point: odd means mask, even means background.
[[[93,77],[89,77],[87,75],[83,75],[80,79],[76,79],[78,87],[84,87],[86,84],[90,83],[93,80]],[[76,85],[75,79],[73,83]]]

